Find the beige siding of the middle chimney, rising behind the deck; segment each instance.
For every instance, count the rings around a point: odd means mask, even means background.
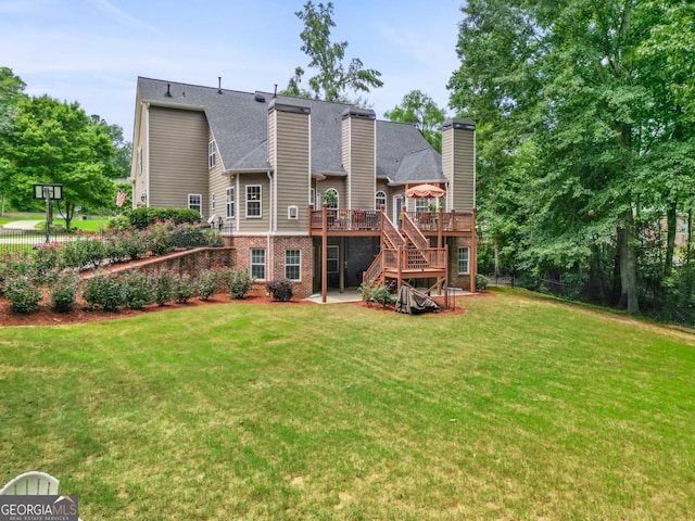
[[[345,131],[350,137],[350,149],[345,165],[349,173],[351,209],[372,209],[376,192],[375,174],[375,119],[346,117],[343,119],[343,154],[345,154]],[[346,207],[346,206],[345,206]]]

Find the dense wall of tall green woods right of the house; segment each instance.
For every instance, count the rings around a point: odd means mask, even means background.
[[[462,13],[448,88],[478,122],[482,266],[692,321],[694,4],[469,0]]]

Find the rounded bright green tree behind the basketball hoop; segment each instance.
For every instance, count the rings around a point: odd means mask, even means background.
[[[31,205],[31,185],[64,186],[59,209],[71,228],[77,206],[108,206],[115,195],[114,148],[103,125],[94,125],[78,103],[47,96],[20,104],[9,139],[9,183],[17,207]]]

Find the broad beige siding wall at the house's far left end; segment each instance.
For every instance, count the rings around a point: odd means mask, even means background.
[[[208,216],[207,137],[202,112],[150,107],[150,193],[152,207],[186,208],[188,194],[203,194]]]

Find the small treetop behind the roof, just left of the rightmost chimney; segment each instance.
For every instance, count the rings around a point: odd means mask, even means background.
[[[439,126],[444,122],[445,112],[437,106],[430,96],[420,90],[412,90],[403,97],[400,105],[387,111],[383,117],[415,125],[434,150],[442,151],[442,132]]]

